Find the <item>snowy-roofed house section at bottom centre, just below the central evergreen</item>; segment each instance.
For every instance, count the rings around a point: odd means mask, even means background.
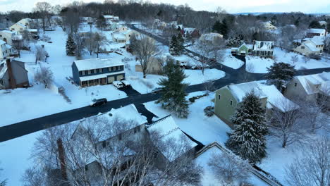
[[[181,154],[173,153],[173,151],[178,151],[178,149],[174,149],[176,147],[169,146],[168,148],[159,148],[159,143],[155,142],[154,146],[157,148],[156,156],[157,162],[156,166],[160,170],[164,170],[166,165],[173,161],[177,161],[180,158],[185,156],[193,156],[200,149],[200,145],[190,140],[190,138],[182,132],[182,130],[176,125],[175,120],[171,115],[165,116],[159,120],[154,121],[154,123],[150,125],[146,125],[147,132],[152,134],[153,132],[158,132],[160,136],[161,143],[167,144],[174,140],[173,142],[177,142],[178,144],[183,144],[183,142],[187,142],[188,144],[181,149]],[[173,149],[171,149],[173,148]]]

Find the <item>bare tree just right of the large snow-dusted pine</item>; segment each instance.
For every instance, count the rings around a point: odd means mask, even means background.
[[[281,139],[283,148],[306,140],[305,127],[298,122],[301,117],[298,105],[288,99],[279,99],[277,107],[271,110],[269,129],[271,135]]]

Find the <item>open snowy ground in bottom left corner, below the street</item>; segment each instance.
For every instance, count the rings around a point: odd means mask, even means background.
[[[33,144],[42,131],[18,137],[0,143],[0,172],[1,180],[7,179],[7,185],[23,185],[20,182],[25,169],[34,162],[30,159]]]

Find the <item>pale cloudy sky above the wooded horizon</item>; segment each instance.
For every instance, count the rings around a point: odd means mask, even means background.
[[[68,4],[73,0],[0,0],[0,12],[11,10],[31,11],[38,1],[47,1],[52,5]],[[90,2],[93,0],[82,0]],[[104,0],[94,0],[103,2]],[[196,11],[215,11],[221,6],[228,13],[248,12],[291,12],[330,13],[329,0],[149,0],[153,3],[188,4]]]

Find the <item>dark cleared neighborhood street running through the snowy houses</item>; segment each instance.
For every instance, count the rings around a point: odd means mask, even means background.
[[[152,35],[148,32],[145,32],[144,30],[140,30],[136,28],[134,25],[128,25],[131,29],[137,30],[138,32],[142,32],[145,35],[149,35],[150,37],[156,39],[158,42],[161,42],[162,44],[169,44],[169,41],[166,39],[162,39],[156,35]],[[188,50],[187,50],[188,51]],[[193,54],[195,54],[193,51],[188,51]],[[195,54],[197,56],[200,56],[200,54]],[[200,56],[202,58],[205,58],[204,56]],[[245,61],[245,59],[242,59]],[[229,85],[231,83],[240,83],[240,82],[249,82],[253,80],[264,80],[264,74],[256,74],[256,73],[247,73],[245,71],[245,66],[235,70],[233,68],[229,68],[226,66],[222,66],[220,63],[216,63],[212,68],[216,68],[219,70],[223,70],[226,73],[226,76],[219,79],[214,80],[214,89],[219,89],[221,87],[224,87],[226,85]],[[311,69],[311,70],[298,70],[296,72],[296,75],[309,75],[309,74],[315,74],[315,73],[322,73],[322,72],[330,72],[330,68],[317,68],[317,69]],[[197,91],[203,91],[205,89],[204,84],[198,84],[198,85],[190,85],[187,87],[185,92],[197,92]],[[49,116],[44,116],[41,118],[35,118],[32,120],[25,120],[20,123],[14,123],[11,125],[6,125],[4,127],[0,128],[0,142],[4,142],[6,140],[11,140],[16,137],[20,137],[23,135],[30,134],[32,132],[37,132],[39,130],[44,130],[46,128],[51,128],[56,125],[62,125],[64,123],[69,123],[74,120],[80,120],[82,118],[87,118],[90,116],[97,115],[98,113],[104,113],[107,111],[110,111],[112,108],[119,108],[121,106],[126,106],[128,104],[135,104],[137,106],[140,113],[147,116],[148,120],[151,120],[152,113],[148,113],[148,111],[144,108],[144,106],[141,106],[140,104],[143,104],[148,101],[154,101],[159,98],[159,94],[139,94],[135,90],[124,90],[128,94],[127,98],[123,99],[117,99],[113,101],[108,101],[107,104],[99,107],[90,107],[85,106],[79,109],[73,109],[70,111],[63,111],[61,113],[55,113],[51,114]]]

